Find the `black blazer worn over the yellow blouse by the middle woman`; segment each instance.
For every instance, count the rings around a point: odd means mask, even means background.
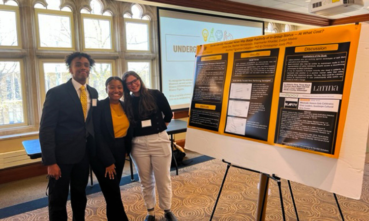
[[[124,103],[121,105],[125,110]],[[93,111],[93,125],[95,129],[96,153],[105,167],[115,163],[113,148],[115,143],[113,118],[110,111],[109,97],[97,102],[97,107]],[[133,128],[130,126],[124,139],[126,153],[131,150]]]

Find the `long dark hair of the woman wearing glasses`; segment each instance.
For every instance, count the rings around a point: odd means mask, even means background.
[[[151,114],[156,112],[156,104],[154,96],[149,92],[149,90],[146,88],[145,83],[142,81],[140,76],[134,72],[134,71],[127,71],[123,74],[122,80],[123,80],[123,92],[124,92],[124,103],[126,106],[126,114],[131,122],[134,122],[133,117],[133,98],[130,94],[130,91],[127,87],[126,80],[129,76],[133,76],[137,78],[141,83],[140,88],[140,100],[138,103],[138,115],[140,119],[145,119],[149,117]]]

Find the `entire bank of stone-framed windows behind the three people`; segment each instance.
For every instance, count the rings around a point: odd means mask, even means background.
[[[128,7],[124,18],[113,17],[117,7]],[[77,50],[95,59],[87,83],[100,98],[107,96],[106,79],[126,70],[157,88],[150,36],[155,15],[146,12],[154,13],[154,7],[113,0],[0,0],[0,136],[38,130],[45,95],[72,77],[64,57]]]

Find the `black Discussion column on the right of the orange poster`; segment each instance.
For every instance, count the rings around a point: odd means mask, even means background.
[[[288,47],[278,102],[278,144],[334,154],[350,42]]]

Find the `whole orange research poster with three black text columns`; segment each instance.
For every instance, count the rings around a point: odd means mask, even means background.
[[[188,126],[338,158],[360,28],[197,46]]]

